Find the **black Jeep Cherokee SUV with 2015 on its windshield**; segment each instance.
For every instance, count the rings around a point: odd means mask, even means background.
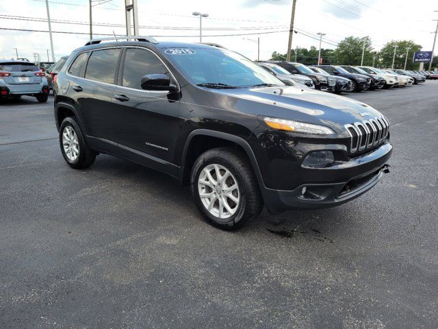
[[[343,204],[386,171],[389,123],[374,108],[285,86],[227,49],[136,40],[92,40],[59,73],[55,121],[70,167],[104,153],[168,173],[221,228],[263,204]]]

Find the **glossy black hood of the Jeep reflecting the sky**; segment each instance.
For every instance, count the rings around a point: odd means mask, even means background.
[[[326,125],[338,134],[345,132],[347,123],[382,115],[360,101],[310,88],[275,86],[210,91],[253,102],[250,106],[242,106],[251,114]]]

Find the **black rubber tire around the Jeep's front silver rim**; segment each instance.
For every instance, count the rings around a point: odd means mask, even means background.
[[[233,178],[235,178],[237,182],[240,200],[238,204],[234,204],[234,206],[237,205],[237,209],[235,210],[234,215],[229,218],[221,219],[220,217],[211,214],[209,210],[205,208],[206,206],[204,206],[199,195],[198,179],[203,172],[203,169],[209,164],[218,164],[224,167],[231,173],[231,175],[233,175]],[[193,164],[190,183],[192,195],[199,211],[202,212],[209,223],[218,228],[224,230],[235,230],[236,228],[240,228],[244,223],[257,217],[263,208],[263,199],[261,198],[253,167],[245,154],[242,154],[241,151],[231,147],[209,149],[201,154]],[[211,192],[213,191],[216,190],[211,188]],[[218,195],[218,197],[222,197],[222,192],[220,194],[221,195]],[[216,204],[216,202],[218,202],[218,200],[213,203]]]

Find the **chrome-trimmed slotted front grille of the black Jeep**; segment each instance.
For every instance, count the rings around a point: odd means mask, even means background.
[[[370,149],[383,143],[389,133],[389,121],[385,116],[345,125],[350,134],[350,153]]]

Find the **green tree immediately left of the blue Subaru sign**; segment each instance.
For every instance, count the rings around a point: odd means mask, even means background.
[[[404,60],[406,60],[406,52],[409,47],[408,60],[406,64],[407,70],[417,70],[420,64],[413,62],[413,53],[422,49],[421,45],[417,45],[413,40],[392,40],[387,42],[386,45],[379,51],[378,60],[379,66],[383,68],[390,68],[392,65],[392,59],[394,57],[394,47],[396,49],[396,58],[394,60],[394,69],[403,69]]]

